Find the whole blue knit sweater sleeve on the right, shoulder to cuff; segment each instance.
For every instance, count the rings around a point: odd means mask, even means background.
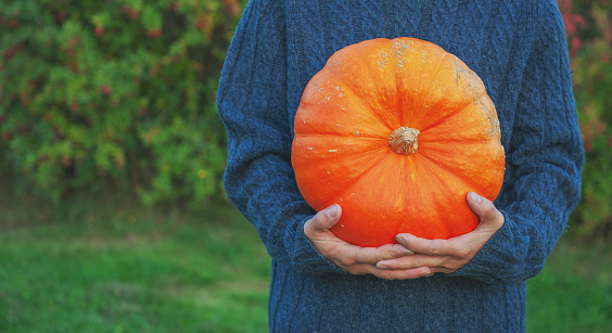
[[[523,74],[506,181],[496,206],[503,227],[451,276],[518,283],[537,276],[581,196],[584,161],[563,24],[543,15]]]

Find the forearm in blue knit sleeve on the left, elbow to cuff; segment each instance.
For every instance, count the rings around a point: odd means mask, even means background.
[[[291,167],[279,155],[233,161],[225,175],[228,196],[255,225],[270,256],[304,274],[342,272],[304,235],[314,210],[304,202]]]

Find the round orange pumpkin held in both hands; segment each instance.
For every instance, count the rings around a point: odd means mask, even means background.
[[[416,137],[416,142],[415,142]],[[466,195],[494,201],[505,153],[495,105],[480,77],[438,46],[372,39],[334,53],[306,86],[291,162],[332,232],[360,246],[397,233],[448,239],[479,223]]]

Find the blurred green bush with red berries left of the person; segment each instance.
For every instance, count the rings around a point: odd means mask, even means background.
[[[0,172],[21,193],[221,193],[214,105],[237,0],[0,3]]]

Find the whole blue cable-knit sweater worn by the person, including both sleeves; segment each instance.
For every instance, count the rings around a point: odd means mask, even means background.
[[[304,235],[315,212],[291,167],[302,92],[339,49],[415,37],[461,59],[494,101],[507,152],[503,227],[463,268],[407,281],[350,276]],[[227,194],[272,257],[272,332],[521,332],[535,277],[579,200],[583,148],[553,0],[253,0],[221,73]]]

